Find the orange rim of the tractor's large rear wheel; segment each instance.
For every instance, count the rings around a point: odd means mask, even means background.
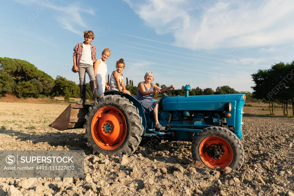
[[[126,119],[119,109],[106,106],[99,109],[91,123],[91,134],[95,143],[105,150],[113,150],[126,137]]]

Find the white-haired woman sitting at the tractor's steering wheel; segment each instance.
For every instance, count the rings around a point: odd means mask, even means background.
[[[161,126],[158,122],[158,104],[159,101],[152,101],[152,95],[158,94],[160,92],[166,92],[169,89],[175,88],[171,85],[168,88],[165,88],[161,91],[161,88],[156,86],[156,84],[151,83],[153,79],[153,73],[147,72],[144,76],[145,81],[138,84],[137,99],[142,104],[144,112],[150,113],[153,111],[154,120],[155,120],[155,129],[164,129],[165,127]]]

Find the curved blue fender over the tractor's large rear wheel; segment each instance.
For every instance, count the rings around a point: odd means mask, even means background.
[[[144,110],[143,110],[143,107],[142,107],[142,104],[136,99],[135,96],[133,95],[129,95],[129,94],[123,94],[121,92],[118,92],[118,91],[107,91],[107,92],[104,92],[104,95],[121,95],[121,97],[124,97],[128,100],[130,100],[130,102],[133,103],[133,105],[138,108],[139,110],[139,116],[142,117],[142,127],[143,127],[143,134],[142,135],[145,135],[145,130],[146,130],[146,118],[145,118],[145,114],[144,114]]]

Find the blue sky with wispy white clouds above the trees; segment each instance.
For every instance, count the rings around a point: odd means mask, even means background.
[[[154,82],[176,88],[252,91],[250,74],[294,60],[290,0],[13,0],[1,1],[0,17],[0,57],[76,84],[73,48],[86,30],[97,58],[111,49],[108,73],[124,58],[134,85],[152,71]]]

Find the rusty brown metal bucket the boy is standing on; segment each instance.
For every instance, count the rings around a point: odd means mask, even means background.
[[[85,116],[89,112],[88,104],[69,104],[69,106],[54,120],[49,127],[63,131],[66,129],[82,129],[86,119]]]

